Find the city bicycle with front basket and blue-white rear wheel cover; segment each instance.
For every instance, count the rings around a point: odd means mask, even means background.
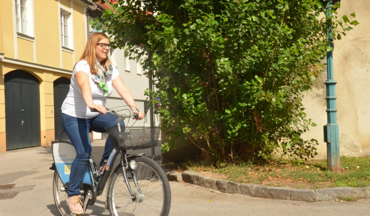
[[[91,109],[92,112],[98,112]],[[94,205],[108,182],[105,199],[105,210],[110,215],[161,215],[166,216],[171,206],[171,190],[164,170],[144,153],[126,153],[128,149],[144,149],[157,145],[159,127],[123,127],[120,120],[137,116],[118,114],[117,126],[106,127],[111,139],[113,150],[105,165],[104,172],[98,173],[94,159],[90,156],[81,183],[80,195],[83,197],[83,210]],[[71,213],[67,203],[69,169],[76,156],[75,149],[69,141],[52,142],[54,163],[50,169],[55,170],[53,178],[53,196],[58,212],[62,216],[76,216]],[[115,163],[120,158],[119,163]],[[69,213],[68,213],[69,212]]]

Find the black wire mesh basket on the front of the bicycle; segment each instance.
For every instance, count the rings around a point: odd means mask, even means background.
[[[121,131],[118,130],[121,128]],[[146,149],[157,146],[160,127],[105,127],[108,137],[111,139],[113,148],[125,149]]]

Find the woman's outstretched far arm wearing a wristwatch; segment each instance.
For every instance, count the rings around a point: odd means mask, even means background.
[[[122,97],[122,99],[126,102],[126,104],[130,107],[131,110],[136,109],[136,103],[134,97],[132,97],[131,92],[123,83],[121,76],[117,76],[112,80],[112,86],[115,90],[117,90],[118,94]],[[145,114],[143,112],[135,112],[138,113],[138,120],[144,119]]]

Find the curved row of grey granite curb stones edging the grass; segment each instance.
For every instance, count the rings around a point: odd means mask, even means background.
[[[243,194],[250,197],[296,200],[305,202],[329,201],[335,199],[366,199],[370,198],[370,187],[328,187],[319,189],[270,187],[252,183],[236,183],[228,180],[206,177],[194,171],[182,173],[164,168],[168,180],[187,182],[224,193]]]

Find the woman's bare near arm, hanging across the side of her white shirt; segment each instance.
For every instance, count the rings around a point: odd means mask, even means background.
[[[91,87],[90,87],[90,82],[89,82],[89,76],[83,72],[83,71],[78,71],[74,75],[77,80],[78,86],[80,86],[81,91],[82,91],[82,97],[89,109],[94,108],[98,110],[100,113],[107,113],[107,109],[105,109],[104,106],[100,104],[94,104],[94,101],[92,100],[92,92],[91,92]]]

